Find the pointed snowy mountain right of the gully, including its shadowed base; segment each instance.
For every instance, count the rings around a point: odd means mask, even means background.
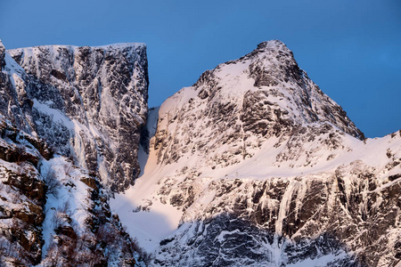
[[[204,72],[146,127],[144,173],[110,203],[155,266],[401,259],[401,131],[364,139],[280,41]]]

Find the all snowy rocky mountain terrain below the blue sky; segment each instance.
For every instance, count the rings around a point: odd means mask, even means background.
[[[145,44],[0,43],[0,266],[401,266],[401,130],[282,42],[148,109]]]

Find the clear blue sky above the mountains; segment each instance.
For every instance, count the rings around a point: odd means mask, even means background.
[[[399,0],[0,0],[6,48],[148,44],[150,106],[280,39],[367,137],[401,128]]]

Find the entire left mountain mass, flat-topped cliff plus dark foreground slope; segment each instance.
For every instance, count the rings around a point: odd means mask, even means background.
[[[0,43],[0,69],[0,266],[144,266],[109,198],[139,174],[145,45]]]

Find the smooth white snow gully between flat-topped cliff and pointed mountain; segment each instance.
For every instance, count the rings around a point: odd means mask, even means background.
[[[155,133],[158,111],[159,109],[154,109],[150,112],[147,124],[150,134]],[[160,179],[156,158],[154,151],[148,156],[141,146],[139,163],[142,175],[135,181],[135,186],[124,193],[115,194],[115,198],[110,198],[111,210],[119,214],[121,223],[127,226],[130,235],[150,253],[159,246],[160,240],[176,230],[182,216],[182,212],[176,207],[161,204],[154,194]],[[149,211],[134,212],[138,206],[150,203]]]

